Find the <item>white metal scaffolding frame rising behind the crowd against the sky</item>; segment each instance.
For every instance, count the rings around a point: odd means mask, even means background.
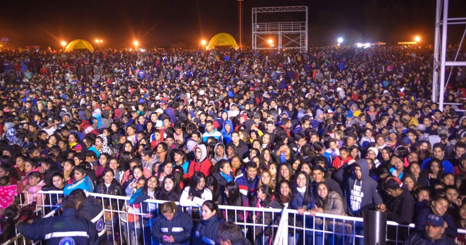
[[[306,20],[300,22],[259,22],[258,13],[306,12]],[[304,19],[304,18],[303,18]],[[274,44],[273,40],[278,40]],[[252,48],[308,50],[308,7],[259,7],[252,9]]]

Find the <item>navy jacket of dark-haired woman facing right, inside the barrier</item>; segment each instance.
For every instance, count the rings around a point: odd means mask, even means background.
[[[217,215],[206,220],[201,220],[196,224],[196,230],[193,233],[193,244],[196,245],[218,245],[217,227],[224,222]]]

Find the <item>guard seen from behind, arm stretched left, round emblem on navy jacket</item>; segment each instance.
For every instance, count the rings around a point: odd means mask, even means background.
[[[20,221],[16,228],[25,238],[45,240],[48,245],[98,245],[95,226],[77,215],[76,205],[75,198],[67,196],[61,204],[61,216]]]

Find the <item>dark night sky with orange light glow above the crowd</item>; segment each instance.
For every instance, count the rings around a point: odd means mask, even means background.
[[[252,7],[293,5],[309,6],[311,45],[331,44],[340,35],[393,43],[419,34],[433,42],[435,0],[244,0],[244,44],[251,45]],[[465,0],[450,0],[450,6],[452,17],[465,17]],[[180,42],[195,45],[217,32],[237,37],[236,0],[9,0],[1,8],[0,36],[9,37],[15,47],[57,47],[60,40],[78,38],[101,38],[104,47],[130,47],[134,39],[146,47],[168,47]],[[291,14],[270,17],[293,20],[297,19]],[[451,29],[456,37],[452,42],[459,42],[463,30],[464,26]]]

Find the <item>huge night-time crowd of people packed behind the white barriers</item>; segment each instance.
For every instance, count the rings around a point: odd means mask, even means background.
[[[455,105],[440,110],[431,101],[432,47],[0,56],[3,242],[17,222],[25,232],[46,229],[50,219],[27,220],[62,202],[80,234],[96,226],[91,244],[272,243],[276,216],[218,205],[287,207],[301,217],[297,227],[360,235],[362,224],[314,216],[378,210],[415,224],[410,237],[400,232],[408,244],[466,242],[457,232],[466,227],[466,73],[452,70],[444,98]],[[92,214],[99,206],[125,212]],[[141,210],[147,215],[133,215]],[[227,218],[266,226],[240,229]],[[60,238],[50,234],[34,239]],[[289,241],[362,244],[308,231]]]

